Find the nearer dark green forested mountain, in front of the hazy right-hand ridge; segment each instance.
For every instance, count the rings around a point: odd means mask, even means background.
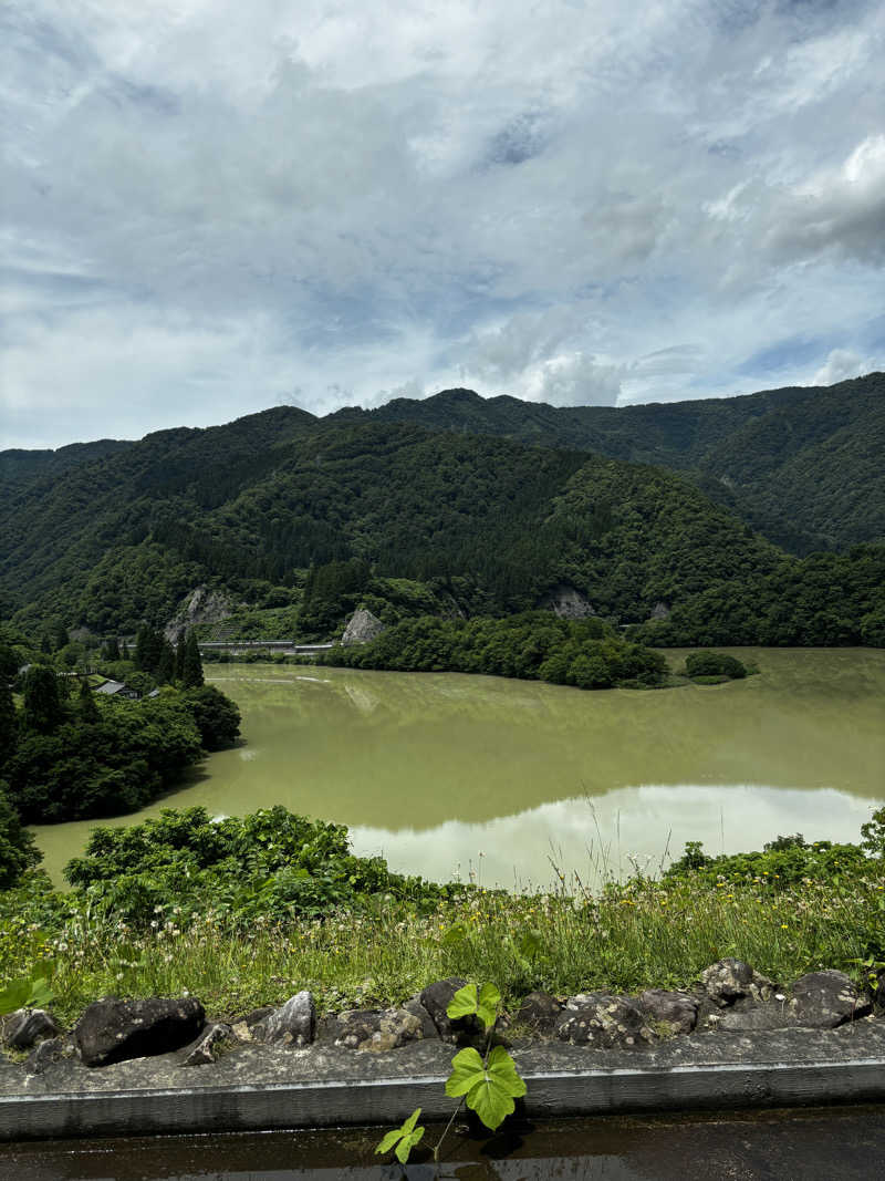
[[[163,621],[202,582],[267,601],[310,563],[348,560],[445,586],[468,613],[566,582],[638,621],[784,557],[661,469],[289,407],[34,481],[0,505],[0,535],[6,613],[98,632]]]

